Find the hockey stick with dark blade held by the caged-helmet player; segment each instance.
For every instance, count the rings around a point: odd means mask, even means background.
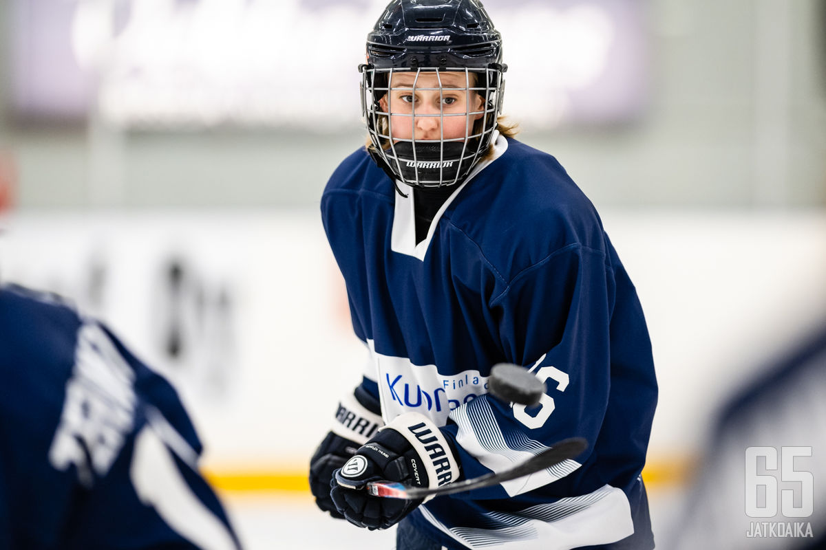
[[[373,496],[413,500],[425,498],[425,496],[450,495],[482,487],[491,487],[491,485],[498,485],[517,477],[528,476],[545,468],[551,468],[553,465],[563,462],[563,460],[581,454],[587,446],[586,440],[581,437],[572,437],[554,444],[550,449],[545,449],[505,472],[486,473],[483,476],[466,479],[463,482],[448,483],[442,487],[432,489],[397,482],[368,482],[367,491]]]

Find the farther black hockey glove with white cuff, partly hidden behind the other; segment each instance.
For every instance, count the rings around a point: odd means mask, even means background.
[[[334,518],[344,519],[330,498],[333,472],[344,466],[358,446],[384,425],[380,411],[378,400],[358,386],[354,394],[339,403],[330,432],[310,459],[310,491],[316,497],[316,505]]]

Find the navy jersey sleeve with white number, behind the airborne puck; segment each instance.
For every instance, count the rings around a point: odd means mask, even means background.
[[[457,444],[463,476],[508,469],[569,437],[585,438],[588,449],[529,477],[473,491],[473,499],[522,495],[591,463],[609,405],[613,300],[605,254],[580,245],[530,266],[493,297],[506,360],[529,367],[546,393],[536,407],[482,395],[452,411],[443,430]]]

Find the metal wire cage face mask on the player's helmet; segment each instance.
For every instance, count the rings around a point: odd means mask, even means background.
[[[362,115],[373,143],[370,154],[394,180],[417,187],[453,186],[486,156],[501,113],[506,66],[376,68],[366,64],[359,69]],[[459,73],[462,78],[445,87],[444,73]],[[398,78],[401,75],[406,77]],[[397,82],[402,79],[405,82]],[[421,83],[424,80],[430,82],[427,87]],[[465,99],[463,110],[445,106],[445,96],[455,99],[458,94]],[[438,99],[438,109],[422,103],[419,95]],[[451,120],[454,117],[462,122]],[[417,138],[417,123],[427,118],[437,123],[438,135]],[[445,135],[446,123],[453,135]]]

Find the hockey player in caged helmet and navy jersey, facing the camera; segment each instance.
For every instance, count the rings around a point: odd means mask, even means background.
[[[640,472],[657,402],[633,284],[557,160],[499,123],[501,35],[477,0],[393,0],[368,35],[369,143],[321,198],[370,360],[311,458],[316,503],[399,550],[653,548]],[[529,367],[539,407],[487,394]],[[576,459],[430,501],[438,487],[582,436]]]

